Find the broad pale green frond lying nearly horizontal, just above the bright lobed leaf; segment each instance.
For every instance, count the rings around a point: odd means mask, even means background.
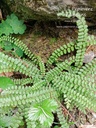
[[[19,86],[19,87],[21,87],[22,90],[23,86]],[[18,105],[26,105],[27,103],[40,102],[44,99],[52,98],[53,96],[56,95],[54,90],[48,87],[42,87],[36,91],[35,90],[32,91],[32,87],[30,88],[26,87],[25,89],[23,88],[23,92],[20,89],[18,90],[19,87],[17,87],[17,89],[14,90],[14,93],[10,88],[11,90],[10,95],[7,95],[8,92],[6,93],[6,90],[1,93],[0,108],[7,106],[9,106],[10,108],[12,106],[15,107]],[[18,95],[18,91],[19,91],[19,95]]]

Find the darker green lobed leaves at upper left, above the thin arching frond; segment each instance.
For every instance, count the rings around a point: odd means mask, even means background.
[[[0,36],[10,35],[10,34],[23,34],[25,32],[26,26],[22,20],[19,20],[15,14],[7,16],[7,19],[2,21],[0,24]]]

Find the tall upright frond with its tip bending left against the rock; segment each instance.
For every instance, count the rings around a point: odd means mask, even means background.
[[[82,15],[80,15],[78,12],[75,12],[72,10],[62,11],[61,13],[58,13],[58,16],[66,16],[68,18],[75,16],[78,18],[78,20],[76,22],[77,27],[78,27],[78,39],[77,39],[77,44],[76,44],[77,54],[76,54],[75,66],[80,67],[83,64],[83,55],[84,55],[85,50],[86,50],[85,49],[86,45],[83,45],[83,48],[80,49],[79,43],[82,43],[82,44],[85,43],[86,44],[87,37],[88,37],[88,26],[86,25],[85,18]]]

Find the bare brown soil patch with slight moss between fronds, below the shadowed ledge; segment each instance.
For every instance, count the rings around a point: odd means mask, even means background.
[[[27,34],[20,36],[20,39],[33,53],[40,56],[42,60],[46,62],[47,58],[55,49],[59,48],[63,44],[74,41],[76,37],[76,29],[66,28],[63,30],[45,27],[42,30],[41,28],[34,27],[33,30]]]

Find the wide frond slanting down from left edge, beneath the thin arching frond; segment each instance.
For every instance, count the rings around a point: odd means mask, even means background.
[[[20,73],[23,73],[29,77],[35,77],[35,75],[37,74],[39,76],[40,74],[37,67],[34,66],[33,64],[32,66],[26,65],[26,62],[24,63],[24,61],[22,60],[9,57],[8,55],[3,54],[2,52],[0,52],[0,57],[1,60],[7,64],[7,67],[9,67],[9,69],[11,68],[14,71],[19,71]]]

